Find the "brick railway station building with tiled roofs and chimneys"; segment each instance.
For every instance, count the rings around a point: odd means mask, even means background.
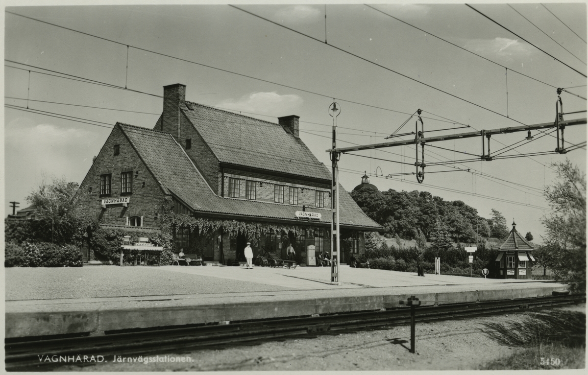
[[[163,88],[152,129],[116,123],[80,185],[82,210],[103,227],[168,233],[158,244],[205,262],[244,261],[265,250],[299,264],[309,245],[330,252],[330,171],[299,137],[299,116],[278,123],[188,102]],[[382,227],[339,190],[341,262]],[[95,260],[91,246],[88,259]],[[308,264],[314,265],[314,264]]]

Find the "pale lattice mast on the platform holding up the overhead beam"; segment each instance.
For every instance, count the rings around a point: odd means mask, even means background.
[[[333,118],[333,147],[330,151],[332,176],[331,176],[331,284],[339,285],[339,168],[337,162],[341,155],[337,148],[337,116],[341,113],[339,103],[335,102],[329,106],[329,115]]]

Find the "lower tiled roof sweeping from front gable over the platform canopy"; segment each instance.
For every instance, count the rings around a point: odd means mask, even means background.
[[[145,162],[165,193],[178,196],[193,210],[200,213],[218,213],[259,217],[260,219],[294,220],[300,206],[255,200],[230,199],[217,196],[192,165],[183,149],[169,133],[118,123],[133,148]],[[329,177],[330,178],[330,177]],[[355,203],[348,192],[341,188],[339,197],[341,225],[369,227],[373,230],[381,226],[370,219]],[[310,211],[320,212],[322,222],[330,221],[329,208],[309,207]]]

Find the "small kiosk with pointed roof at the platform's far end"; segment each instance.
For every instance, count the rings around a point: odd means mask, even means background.
[[[531,279],[532,262],[535,261],[532,255],[534,246],[517,232],[514,220],[509,235],[502,245],[494,247],[493,250],[500,250],[496,257],[496,262],[499,262],[500,279]]]

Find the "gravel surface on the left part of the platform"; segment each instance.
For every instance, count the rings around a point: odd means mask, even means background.
[[[292,290],[155,267],[11,267],[4,270],[6,301]]]

